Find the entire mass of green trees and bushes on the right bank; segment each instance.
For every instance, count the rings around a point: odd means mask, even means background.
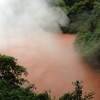
[[[70,23],[61,26],[64,33],[77,33],[75,47],[93,66],[100,66],[100,1],[59,0],[59,6],[68,10]]]

